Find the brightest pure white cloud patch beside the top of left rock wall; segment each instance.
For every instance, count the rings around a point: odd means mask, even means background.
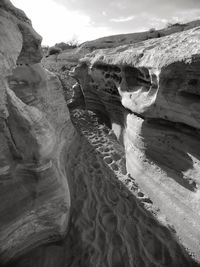
[[[68,11],[54,0],[11,0],[31,19],[34,29],[43,37],[43,44],[66,42],[74,36],[80,42],[109,35],[107,27],[94,27],[89,16]]]

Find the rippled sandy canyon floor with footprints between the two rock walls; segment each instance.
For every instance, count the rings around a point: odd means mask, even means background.
[[[64,159],[72,198],[66,238],[9,267],[195,266],[170,226],[152,216],[159,210],[126,173],[113,132],[92,112],[71,115],[78,134]]]

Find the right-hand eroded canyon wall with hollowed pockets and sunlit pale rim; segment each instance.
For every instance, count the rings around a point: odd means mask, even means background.
[[[71,72],[87,109],[106,118],[123,144],[127,171],[173,225],[177,242],[197,261],[199,36],[197,27],[96,51]]]

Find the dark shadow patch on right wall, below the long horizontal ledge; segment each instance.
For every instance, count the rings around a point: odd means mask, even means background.
[[[147,159],[166,172],[169,178],[195,192],[196,181],[192,177],[185,176],[184,173],[193,168],[190,155],[200,160],[200,154],[197,155],[198,152],[194,152],[194,145],[190,146],[189,143],[196,140],[198,144],[198,132],[184,124],[149,119],[144,120],[142,124],[141,136]]]

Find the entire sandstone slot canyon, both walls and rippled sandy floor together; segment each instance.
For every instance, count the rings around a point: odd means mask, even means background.
[[[88,55],[69,114],[30,21],[0,22],[0,264],[199,266],[200,29]]]

